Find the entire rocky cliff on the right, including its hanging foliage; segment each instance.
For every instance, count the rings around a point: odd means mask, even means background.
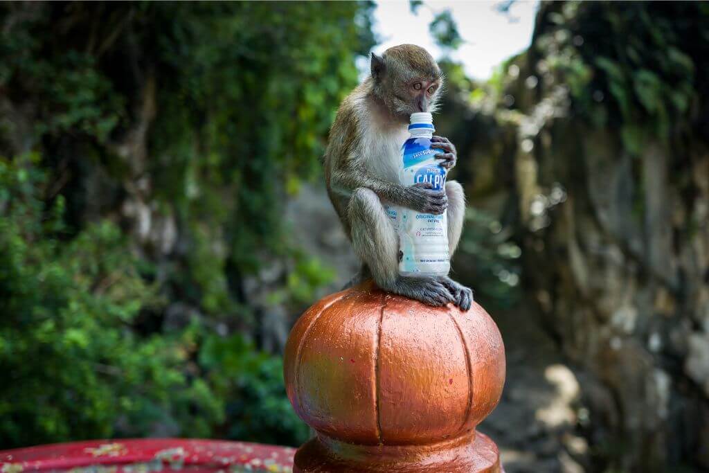
[[[525,299],[576,367],[599,469],[709,468],[698,79],[709,64],[693,43],[708,11],[697,7],[542,5],[530,50],[455,127],[479,136],[471,204],[523,249]]]

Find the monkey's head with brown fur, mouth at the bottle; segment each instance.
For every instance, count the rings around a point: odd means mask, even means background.
[[[411,113],[436,110],[443,73],[428,51],[398,45],[377,56],[372,52],[374,94],[403,121]]]

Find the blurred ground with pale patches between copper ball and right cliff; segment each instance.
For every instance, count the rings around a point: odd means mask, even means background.
[[[479,430],[496,441],[506,473],[586,472],[588,445],[574,432],[574,374],[533,316],[491,316],[505,343],[507,379],[500,404]]]

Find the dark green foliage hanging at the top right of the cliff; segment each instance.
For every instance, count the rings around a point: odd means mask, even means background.
[[[547,6],[549,25],[535,41],[536,69],[569,86],[576,110],[596,126],[619,126],[625,149],[667,143],[691,126],[690,104],[705,92],[702,4],[566,2]],[[625,38],[618,42],[616,38]],[[642,125],[640,125],[642,123]]]

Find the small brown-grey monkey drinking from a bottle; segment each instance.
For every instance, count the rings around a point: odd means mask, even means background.
[[[445,190],[430,183],[403,187],[398,179],[401,147],[414,112],[435,112],[443,74],[433,57],[415,45],[398,45],[379,56],[372,52],[370,74],[340,104],[323,159],[325,184],[354,252],[362,262],[350,284],[371,277],[380,289],[430,306],[453,303],[467,311],[471,289],[444,277],[398,274],[398,235],[388,206],[441,214],[447,210],[452,257],[463,228],[465,195],[456,181]],[[434,136],[441,165],[452,169],[457,150]]]

